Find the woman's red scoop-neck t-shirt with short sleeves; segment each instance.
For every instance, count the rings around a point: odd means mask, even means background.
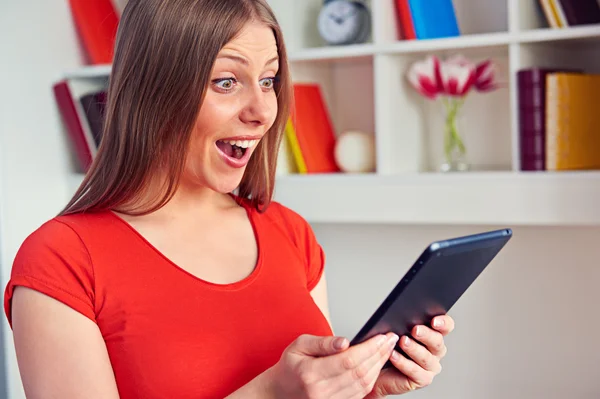
[[[187,273],[112,212],[48,221],[15,258],[9,322],[14,287],[30,287],[97,323],[122,399],[230,394],[299,335],[332,334],[310,295],[324,265],[310,226],[276,202],[263,214],[242,204],[258,262],[227,285]]]

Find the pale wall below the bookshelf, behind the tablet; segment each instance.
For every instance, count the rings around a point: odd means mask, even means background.
[[[335,333],[352,338],[431,241],[507,226],[317,225]],[[600,228],[514,228],[450,314],[442,373],[411,398],[600,398]]]

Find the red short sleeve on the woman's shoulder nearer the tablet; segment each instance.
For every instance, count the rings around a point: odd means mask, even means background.
[[[307,288],[312,291],[324,273],[325,252],[306,219],[277,202],[272,202],[271,206],[278,208],[282,218],[287,221],[289,229],[293,232],[295,244],[305,261]]]

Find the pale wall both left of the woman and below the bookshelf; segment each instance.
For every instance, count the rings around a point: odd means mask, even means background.
[[[62,71],[80,63],[67,4],[0,2],[2,288],[20,243],[67,200],[71,165],[51,92]],[[329,259],[336,332],[356,333],[428,242],[478,230],[316,226]],[[598,243],[599,228],[516,228],[452,311],[457,329],[443,373],[411,397],[600,397]],[[24,398],[4,317],[2,326],[8,397]]]

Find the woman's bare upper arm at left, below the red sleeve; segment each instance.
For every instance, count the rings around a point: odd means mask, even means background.
[[[98,326],[67,305],[18,287],[12,301],[15,349],[28,399],[118,399]]]

